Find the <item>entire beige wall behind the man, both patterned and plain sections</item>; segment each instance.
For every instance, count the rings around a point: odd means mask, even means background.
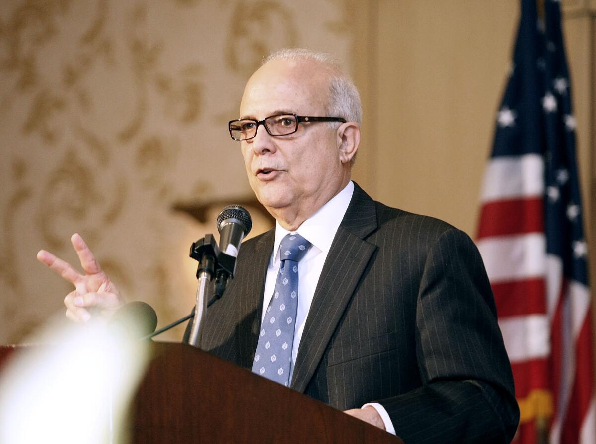
[[[593,215],[596,27],[584,0],[564,4]],[[160,325],[191,308],[188,246],[215,232],[219,208],[205,224],[171,208],[250,197],[225,123],[260,57],[280,46],[346,60],[365,108],[354,176],[371,195],[473,235],[518,8],[517,0],[1,2],[0,343],[61,310],[69,285],[35,254],[47,248],[75,262],[75,231],[129,299],[157,308]],[[266,227],[256,218],[254,232]]]

